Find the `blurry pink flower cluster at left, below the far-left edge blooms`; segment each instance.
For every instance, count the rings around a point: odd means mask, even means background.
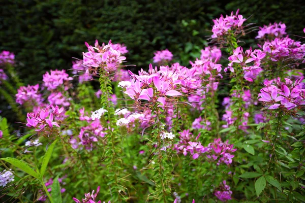
[[[38,106],[43,101],[42,94],[39,92],[39,84],[27,85],[27,87],[21,86],[17,92],[16,103],[20,105],[26,103],[29,106]]]

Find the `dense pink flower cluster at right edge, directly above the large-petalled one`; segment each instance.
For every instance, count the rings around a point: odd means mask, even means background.
[[[272,41],[266,41],[262,47],[272,61],[283,59],[302,60],[305,56],[305,44],[294,41],[288,36],[285,38],[276,38]],[[289,62],[289,60],[285,60]],[[305,62],[305,59],[302,60]]]

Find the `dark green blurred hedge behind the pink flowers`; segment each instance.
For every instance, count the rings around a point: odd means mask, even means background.
[[[25,84],[36,84],[50,69],[70,69],[72,57],[81,58],[84,42],[124,43],[127,64],[137,69],[152,62],[154,52],[168,48],[175,61],[188,65],[211,35],[212,19],[240,14],[262,26],[282,21],[289,34],[302,35],[304,1],[3,1],[0,51],[16,54]],[[243,38],[255,43],[251,33]]]

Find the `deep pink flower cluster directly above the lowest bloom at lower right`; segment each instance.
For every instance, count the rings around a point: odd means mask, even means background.
[[[212,161],[218,160],[217,165],[220,165],[220,163],[231,164],[234,157],[231,153],[235,152],[236,149],[233,149],[233,145],[228,143],[229,141],[223,143],[220,138],[215,139],[214,142],[209,143],[205,148],[206,157]]]

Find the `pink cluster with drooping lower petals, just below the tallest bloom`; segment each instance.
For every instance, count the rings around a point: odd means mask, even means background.
[[[259,49],[252,51],[252,48],[250,47],[250,49],[243,52],[241,47],[237,47],[233,51],[233,55],[229,57],[230,63],[224,71],[226,72],[229,69],[231,72],[234,72],[233,63],[237,63],[242,67],[244,74],[243,78],[253,82],[262,71],[260,64],[265,56],[266,54]],[[249,63],[252,62],[253,64],[250,65]]]

